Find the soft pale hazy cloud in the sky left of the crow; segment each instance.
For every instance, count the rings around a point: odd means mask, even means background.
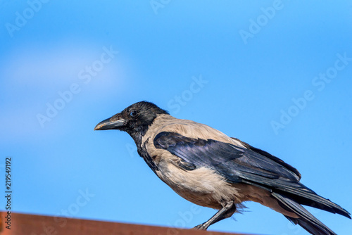
[[[36,116],[37,113],[45,114],[46,103],[54,104],[56,99],[61,98],[58,92],[69,90],[73,83],[77,83],[81,89],[79,94],[75,94],[73,101],[77,96],[87,100],[88,96],[103,97],[122,90],[120,84],[124,65],[120,63],[120,54],[96,72],[90,82],[84,83],[84,80],[80,80],[80,70],[92,66],[103,53],[103,46],[94,46],[94,49],[92,47],[79,44],[32,46],[16,49],[11,55],[3,55],[6,62],[0,65],[0,72],[3,74],[0,93],[5,102],[1,104],[0,122],[6,125],[1,127],[0,132],[15,140],[42,136],[54,129],[60,132],[58,123],[61,122],[54,120],[61,115],[55,117],[44,129],[40,127]],[[82,99],[77,100],[87,103]],[[65,107],[72,106],[75,102],[66,103]]]

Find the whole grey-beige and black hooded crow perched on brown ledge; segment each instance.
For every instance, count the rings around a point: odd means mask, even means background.
[[[141,101],[100,122],[94,130],[119,129],[132,136],[151,170],[183,198],[218,212],[194,229],[231,217],[254,201],[282,213],[310,234],[335,234],[302,205],[351,214],[301,184],[283,160],[207,125],[172,117]]]

